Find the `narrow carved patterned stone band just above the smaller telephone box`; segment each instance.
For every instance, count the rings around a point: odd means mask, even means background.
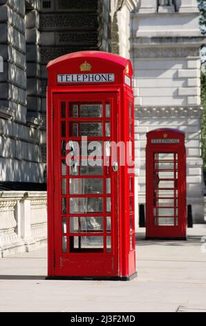
[[[142,106],[135,105],[135,117],[138,118],[196,118],[200,117],[203,108],[200,105],[182,106]]]

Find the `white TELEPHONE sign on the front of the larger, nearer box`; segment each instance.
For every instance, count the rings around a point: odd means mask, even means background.
[[[66,74],[57,75],[58,83],[113,83],[114,74]]]

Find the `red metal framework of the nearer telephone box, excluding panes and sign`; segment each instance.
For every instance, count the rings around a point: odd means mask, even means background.
[[[71,83],[71,85],[58,85],[57,74],[80,74],[79,66],[82,62],[89,62],[92,66],[91,74],[115,75],[112,83]],[[111,277],[129,279],[135,275],[135,225],[134,225],[134,171],[129,165],[119,166],[118,172],[114,172],[110,160],[109,169],[104,166],[104,175],[61,175],[62,158],[60,153],[61,140],[79,140],[79,137],[68,135],[68,122],[102,122],[103,136],[89,138],[89,140],[124,141],[131,140],[131,159],[134,160],[134,109],[133,91],[131,86],[125,83],[125,76],[132,77],[131,62],[111,53],[100,51],[84,51],[64,55],[48,64],[48,91],[47,91],[47,141],[48,141],[48,276],[49,277]],[[128,80],[127,80],[128,81]],[[111,102],[111,118],[71,118],[68,117],[68,103],[102,103],[105,110],[106,101]],[[66,117],[61,118],[60,105],[66,103]],[[129,107],[131,116],[129,117]],[[104,112],[103,110],[103,112]],[[66,126],[66,135],[61,138],[61,121]],[[111,137],[105,135],[105,121],[111,122]],[[129,126],[131,132],[129,133]],[[120,152],[118,150],[118,157]],[[119,157],[120,159],[120,157]],[[111,233],[106,233],[106,203],[104,198],[109,197],[105,192],[105,179],[111,176]],[[72,178],[102,178],[103,194],[71,195],[68,189],[68,179]],[[129,179],[131,178],[131,180]],[[67,179],[66,195],[62,195],[62,179]],[[129,180],[131,191],[129,192]],[[104,209],[95,216],[104,216],[104,230],[100,232],[88,232],[84,234],[69,233],[70,218],[75,216],[94,216],[93,213],[71,214],[68,210],[62,214],[61,198],[103,198]],[[130,199],[131,198],[131,199]],[[131,212],[130,212],[131,203]],[[67,230],[62,234],[62,216],[66,217]],[[78,219],[79,221],[80,219]],[[131,222],[130,222],[131,220]],[[131,225],[131,227],[130,227]],[[102,252],[71,252],[69,241],[66,252],[62,252],[62,237],[69,239],[75,236],[104,236],[104,249]],[[111,252],[106,252],[106,236],[111,236]],[[81,238],[82,239],[82,238]],[[71,241],[71,240],[70,240]],[[73,241],[73,240],[72,240]]]

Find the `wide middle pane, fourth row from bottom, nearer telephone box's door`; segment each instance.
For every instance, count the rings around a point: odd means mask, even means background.
[[[70,179],[69,193],[70,194],[102,194],[103,180],[102,179]]]

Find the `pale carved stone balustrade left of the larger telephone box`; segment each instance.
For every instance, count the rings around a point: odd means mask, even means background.
[[[0,258],[46,245],[46,191],[0,192]]]

